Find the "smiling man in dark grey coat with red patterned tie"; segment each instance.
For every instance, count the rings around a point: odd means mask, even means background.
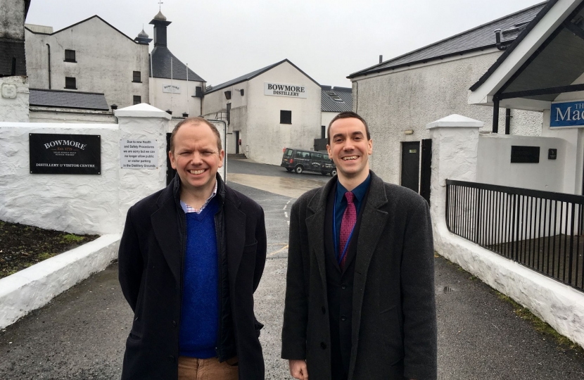
[[[281,356],[296,379],[436,379],[428,204],[369,170],[359,115],[328,136],[338,177],[291,209]]]

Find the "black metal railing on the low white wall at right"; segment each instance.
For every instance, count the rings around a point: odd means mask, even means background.
[[[445,216],[453,234],[584,291],[584,196],[447,179]]]

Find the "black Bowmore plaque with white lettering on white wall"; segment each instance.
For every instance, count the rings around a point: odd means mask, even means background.
[[[101,174],[101,136],[30,133],[31,174]]]

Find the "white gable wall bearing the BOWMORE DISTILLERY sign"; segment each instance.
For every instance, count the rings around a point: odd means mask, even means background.
[[[299,84],[306,99],[264,95],[264,83]],[[320,138],[321,88],[288,62],[248,81],[248,125],[241,132],[243,151],[259,163],[279,165],[282,148],[314,148]],[[280,124],[280,110],[292,111],[292,124]]]

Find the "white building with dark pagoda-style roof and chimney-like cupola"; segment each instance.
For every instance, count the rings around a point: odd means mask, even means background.
[[[170,52],[167,26],[170,21],[158,12],[150,22],[154,25],[154,49],[151,53],[151,104],[170,111],[173,118],[201,115],[201,99],[205,80]]]

